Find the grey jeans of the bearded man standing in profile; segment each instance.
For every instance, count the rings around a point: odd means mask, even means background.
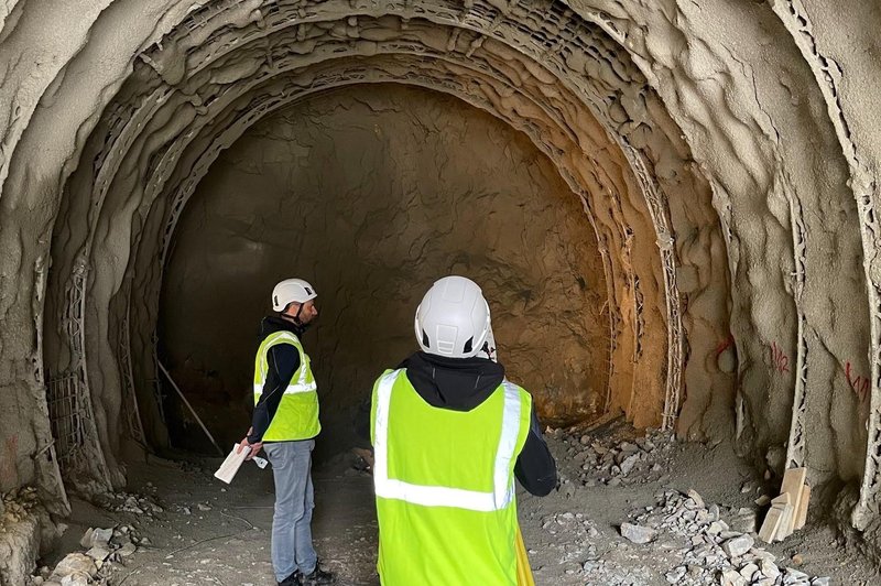
[[[314,440],[263,444],[275,478],[272,517],[272,568],[279,582],[300,569],[312,574],[317,563],[312,546],[312,449]]]

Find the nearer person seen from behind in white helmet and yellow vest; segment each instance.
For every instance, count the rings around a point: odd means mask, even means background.
[[[532,397],[492,360],[489,305],[475,282],[434,283],[415,332],[422,351],[373,386],[380,580],[530,583],[525,552],[518,555],[514,478],[536,496],[557,482]]]

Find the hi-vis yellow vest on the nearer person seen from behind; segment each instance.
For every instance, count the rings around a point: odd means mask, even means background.
[[[405,371],[373,387],[383,586],[515,586],[514,464],[532,398],[504,381],[468,412],[426,403]]]

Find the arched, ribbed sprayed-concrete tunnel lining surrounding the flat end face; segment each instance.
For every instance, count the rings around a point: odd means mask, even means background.
[[[0,13],[18,57],[0,87],[0,397],[29,413],[13,485],[53,485],[28,463],[51,437],[44,384],[72,371],[120,481],[118,415],[134,392],[151,404],[163,259],[198,180],[273,109],[383,82],[507,121],[584,198],[610,405],[861,480],[855,523],[879,511],[879,76],[847,51],[877,54],[871,2],[837,13],[847,43],[818,0],[79,4]],[[36,45],[42,30],[65,34]]]

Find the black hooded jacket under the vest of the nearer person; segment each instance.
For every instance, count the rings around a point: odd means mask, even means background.
[[[401,362],[406,377],[425,402],[439,409],[470,411],[481,404],[504,379],[504,367],[486,358],[444,358],[416,352]],[[370,437],[370,403],[361,405],[357,424],[362,437]],[[557,484],[557,469],[551,451],[542,437],[535,405],[532,424],[523,451],[514,465],[520,484],[533,495],[544,497]]]

